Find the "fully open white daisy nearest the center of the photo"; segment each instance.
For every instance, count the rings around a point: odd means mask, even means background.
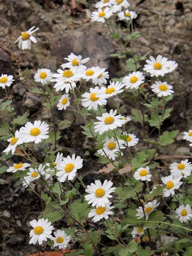
[[[117,127],[121,127],[125,124],[125,120],[122,119],[122,115],[116,115],[117,110],[111,109],[109,113],[104,113],[102,116],[97,116],[96,118],[99,122],[94,122],[95,132],[103,134],[108,130],[114,130]]]

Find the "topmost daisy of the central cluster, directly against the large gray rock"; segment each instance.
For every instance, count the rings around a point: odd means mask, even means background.
[[[82,55],[75,55],[74,53],[70,53],[70,55],[68,55],[68,58],[64,59],[68,62],[61,65],[63,69],[73,67],[86,68],[86,66],[84,66],[83,64],[90,60],[90,58],[82,59]]]

